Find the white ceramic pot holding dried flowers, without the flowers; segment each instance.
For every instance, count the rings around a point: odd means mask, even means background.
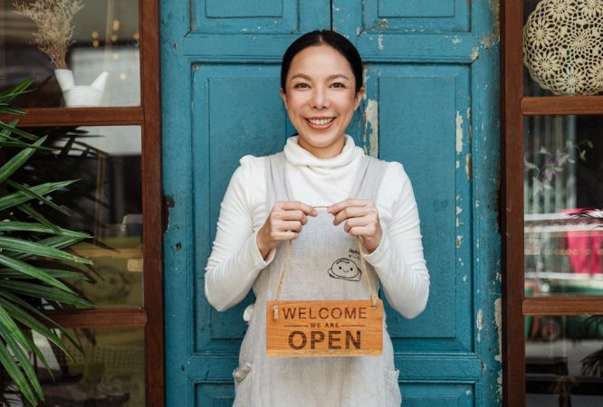
[[[102,93],[105,90],[109,72],[102,72],[90,86],[74,85],[71,70],[54,70],[54,76],[59,82],[62,97],[68,108],[101,106]]]

